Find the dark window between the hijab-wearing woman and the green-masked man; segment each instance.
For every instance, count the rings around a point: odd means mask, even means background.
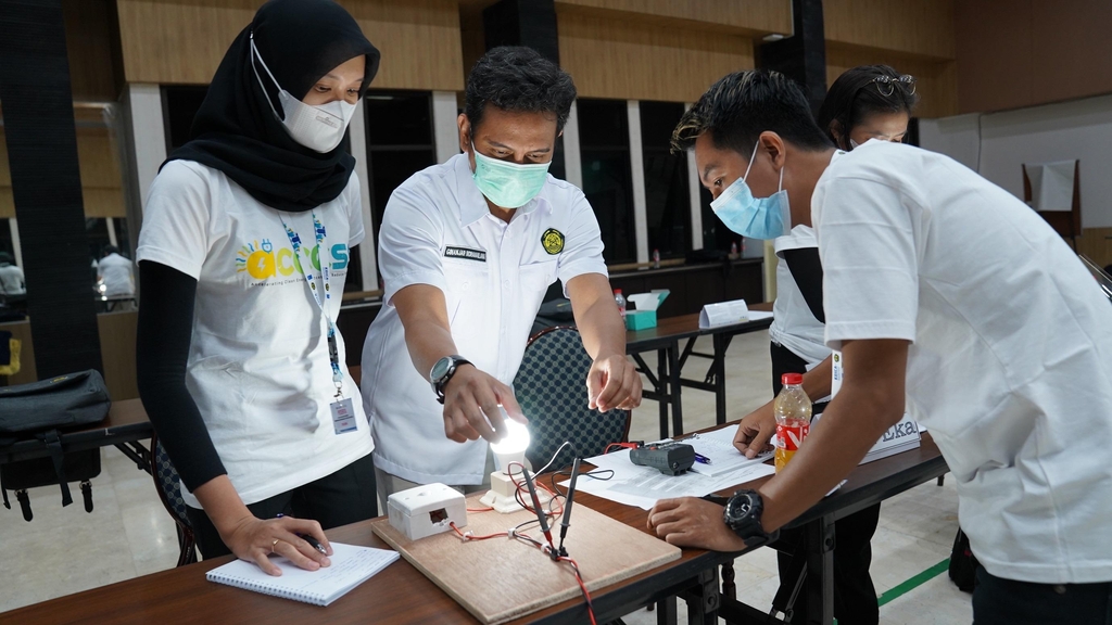
[[[390,194],[410,176],[436,165],[433,136],[433,95],[428,91],[368,91],[367,170],[370,173],[370,212],[375,219],[375,240],[383,226],[383,214]],[[374,249],[357,247],[351,255],[354,268],[359,254]],[[358,289],[356,289],[358,290]]]

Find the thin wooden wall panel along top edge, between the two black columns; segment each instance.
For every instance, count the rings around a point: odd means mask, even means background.
[[[791,0],[556,0],[579,10],[632,13],[639,20],[666,22],[699,30],[725,30],[762,36],[792,33]]]

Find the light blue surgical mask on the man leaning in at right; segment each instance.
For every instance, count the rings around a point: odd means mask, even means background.
[[[753,169],[757,148],[753,147],[749,166],[745,176],[734,180],[718,199],[711,202],[711,208],[727,228],[751,239],[775,239],[783,237],[792,228],[791,205],[787,201],[787,189],[784,188],[784,168],[780,169],[780,190],[767,198],[754,198],[753,191],[745,180]]]

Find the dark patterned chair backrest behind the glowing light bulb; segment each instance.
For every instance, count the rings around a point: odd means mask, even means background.
[[[535,468],[547,464],[565,440],[586,458],[629,435],[628,410],[599,413],[587,407],[590,364],[575,328],[548,328],[529,339],[514,391],[529,419],[530,444],[525,455]],[[564,450],[553,467],[567,466],[573,458]]]

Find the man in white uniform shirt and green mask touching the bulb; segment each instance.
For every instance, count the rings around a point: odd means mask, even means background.
[[[487,442],[506,428],[498,406],[524,420],[509,385],[556,279],[594,359],[590,407],[641,403],[598,222],[583,191],[547,175],[574,99],[572,78],[536,51],[487,52],[458,118],[464,153],[390,196],[379,231],[385,305],[363,353],[384,502],[417,484],[487,479]]]

